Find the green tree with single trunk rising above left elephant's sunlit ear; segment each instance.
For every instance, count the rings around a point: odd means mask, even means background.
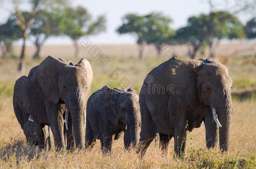
[[[78,40],[85,35],[92,35],[102,32],[106,29],[106,19],[100,15],[96,21],[92,21],[88,11],[78,6],[76,8],[65,8],[63,20],[60,23],[60,29],[63,34],[68,35],[75,47],[75,56],[78,56]]]

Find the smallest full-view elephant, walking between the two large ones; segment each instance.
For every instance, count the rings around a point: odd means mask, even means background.
[[[124,131],[124,145],[138,144],[140,128],[138,95],[133,89],[104,86],[88,99],[86,108],[86,147],[100,139],[102,153],[111,152],[115,140]],[[127,125],[127,129],[125,129]]]

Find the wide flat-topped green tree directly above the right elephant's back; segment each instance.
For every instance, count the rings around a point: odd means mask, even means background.
[[[199,49],[209,46],[210,57],[214,57],[213,44],[219,40],[243,38],[243,24],[225,11],[216,11],[209,15],[201,14],[188,19],[188,25],[177,30],[175,40],[178,43],[189,43],[193,47],[191,58],[196,58]]]

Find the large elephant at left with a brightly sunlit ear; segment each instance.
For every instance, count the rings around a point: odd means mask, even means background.
[[[74,65],[65,59],[47,58],[31,69],[27,96],[38,135],[38,145],[44,147],[42,125],[50,125],[57,150],[84,148],[84,111],[93,78],[86,59]],[[64,126],[68,108],[68,130]]]

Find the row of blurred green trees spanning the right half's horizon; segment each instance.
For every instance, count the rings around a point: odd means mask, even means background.
[[[209,47],[209,57],[215,56],[213,44],[222,39],[256,38],[256,18],[243,25],[238,18],[227,11],[214,11],[188,18],[185,27],[174,30],[170,27],[172,19],[162,13],[148,15],[127,14],[123,24],[117,29],[120,34],[136,35],[140,45],[139,58],[143,58],[145,44],[154,44],[158,55],[164,45],[188,44],[192,48],[189,53],[195,59],[199,50]]]

